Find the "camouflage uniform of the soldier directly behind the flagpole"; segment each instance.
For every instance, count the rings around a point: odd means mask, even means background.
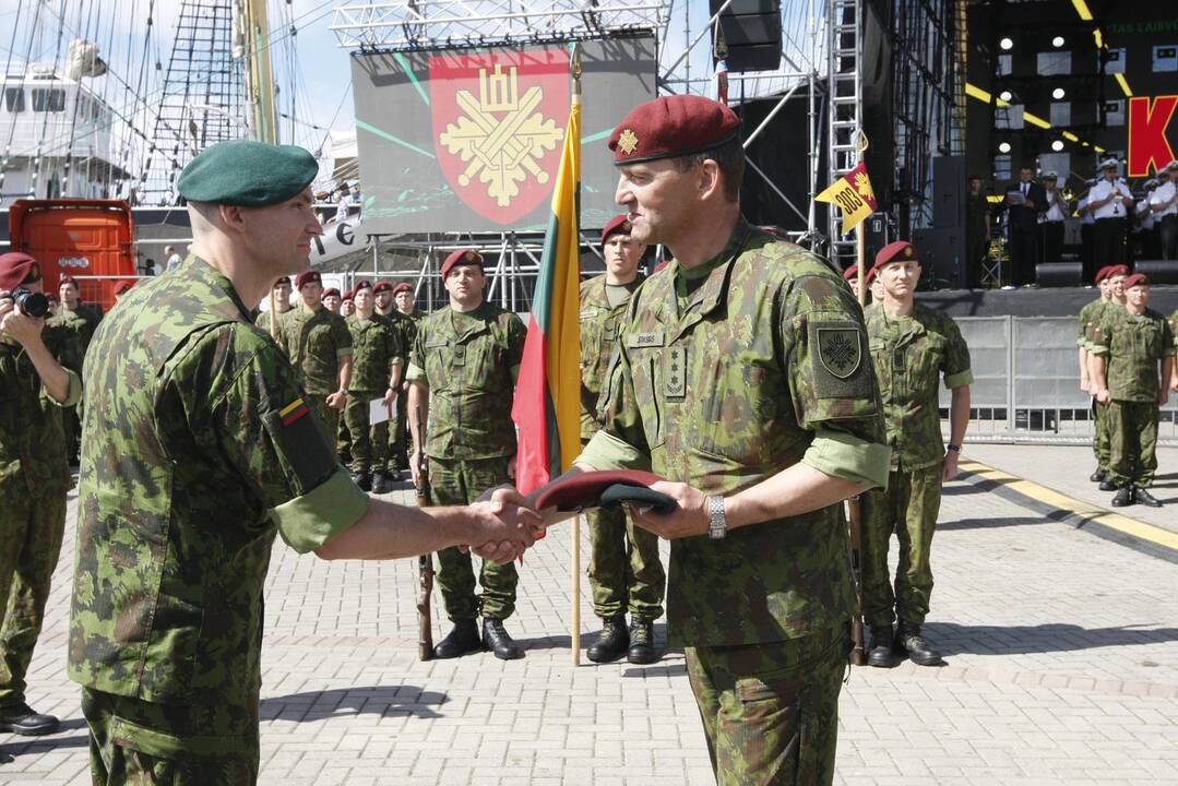
[[[640,276],[626,286],[631,295]],[[626,316],[629,297],[611,306],[605,277],[581,284],[581,442],[597,434],[597,398],[614,356],[614,345]],[[667,574],[659,560],[659,536],[635,527],[621,510],[593,509],[589,522],[589,583],[594,614],[603,620],[629,612],[637,620],[657,620],[663,614]]]

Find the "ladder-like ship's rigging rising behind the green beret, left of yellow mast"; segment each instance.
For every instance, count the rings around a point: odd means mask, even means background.
[[[234,0],[183,0],[141,176],[145,205],[176,204],[176,178],[209,145],[249,137],[233,58]]]

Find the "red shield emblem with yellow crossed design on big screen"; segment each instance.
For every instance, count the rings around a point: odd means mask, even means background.
[[[434,146],[455,193],[509,225],[552,193],[569,113],[562,47],[430,58]]]

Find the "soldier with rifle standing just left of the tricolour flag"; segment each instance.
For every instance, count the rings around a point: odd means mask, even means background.
[[[487,276],[477,251],[459,249],[446,257],[442,282],[450,308],[422,321],[405,372],[413,432],[409,467],[416,481],[424,453],[434,502],[465,504],[515,477],[511,401],[527,329],[519,317],[484,299]],[[437,583],[454,629],[434,648],[435,656],[457,658],[485,646],[502,660],[523,658],[503,627],[515,612],[516,567],[484,561],[478,580],[481,597],[470,555],[457,548],[438,551]]]

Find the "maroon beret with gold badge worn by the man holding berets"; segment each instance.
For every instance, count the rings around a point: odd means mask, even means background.
[[[703,95],[663,95],[630,111],[609,137],[614,165],[693,156],[736,138],[740,118]]]

